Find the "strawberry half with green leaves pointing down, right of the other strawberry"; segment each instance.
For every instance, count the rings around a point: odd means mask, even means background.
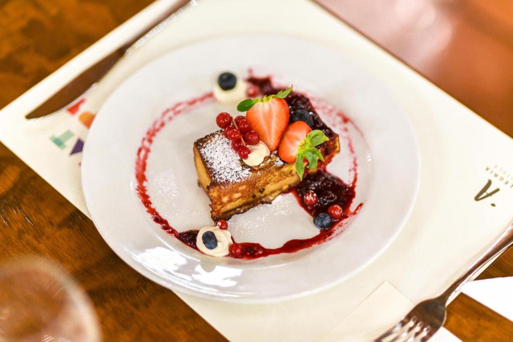
[[[321,130],[313,130],[304,122],[297,121],[290,124],[285,132],[278,149],[278,155],[287,163],[295,162],[295,170],[299,178],[303,179],[305,164],[308,161],[309,169],[317,168],[317,160],[324,162],[324,157],[315,146],[326,142],[328,138]]]

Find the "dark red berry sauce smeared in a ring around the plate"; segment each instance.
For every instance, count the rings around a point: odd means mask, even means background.
[[[256,78],[250,77],[248,82],[252,84],[250,89],[253,89],[256,93],[251,96],[257,96],[258,90],[263,94],[272,94],[277,93],[277,89],[272,87],[271,80],[269,77],[267,78]],[[151,145],[155,136],[162,130],[162,128],[170,122],[175,116],[181,115],[189,112],[191,109],[197,108],[202,105],[206,105],[212,103],[214,101],[214,97],[211,92],[206,93],[200,97],[195,97],[190,100],[186,100],[183,102],[176,103],[174,106],[168,108],[164,111],[161,117],[152,124],[152,126],[146,132],[146,135],[143,137],[141,146],[137,150],[137,158],[135,160],[135,177],[136,177],[136,191],[139,196],[141,203],[146,208],[146,211],[151,215],[153,222],[158,224],[161,229],[166,231],[168,234],[175,236],[177,239],[181,240],[187,246],[198,249],[196,247],[196,237],[198,236],[198,230],[188,230],[184,232],[178,232],[176,229],[171,227],[169,222],[165,217],[163,217],[154,207],[151,202],[150,195],[148,194],[147,189],[147,176],[146,176],[146,168],[147,168],[147,160],[148,156],[151,152]],[[308,97],[303,94],[299,94],[296,92],[292,92],[289,96],[287,96],[286,101],[289,107],[293,110],[294,108],[304,108],[312,113],[314,113],[314,129],[322,129],[325,134],[330,137],[330,134],[333,135],[333,131],[329,127],[327,127],[319,118],[317,112],[314,111],[312,104]],[[228,113],[226,113],[228,114]],[[228,114],[229,115],[229,114]],[[344,119],[344,123],[347,122],[347,118],[343,116],[340,111],[336,111],[330,113],[330,115],[339,115]],[[242,118],[238,118],[242,120]],[[218,122],[218,120],[216,120]],[[225,132],[231,128],[235,129],[239,134],[240,132],[235,128],[230,126],[230,122],[225,126]],[[219,123],[218,123],[219,125]],[[225,119],[221,119],[221,125],[225,125]],[[317,126],[316,126],[317,125]],[[221,126],[220,126],[221,127]],[[249,137],[251,134],[251,130],[244,135],[244,140],[249,145],[258,144],[260,141],[260,137],[258,140],[253,136],[253,138]],[[240,136],[240,135],[239,135]],[[248,138],[249,137],[249,138]],[[253,139],[253,140],[252,140]],[[349,137],[345,138],[348,144],[347,148],[351,154],[353,154],[352,146],[350,144]],[[255,142],[256,141],[256,142]],[[253,144],[254,143],[254,144]],[[242,145],[242,142],[241,142]],[[241,147],[239,147],[241,149]],[[328,160],[327,160],[328,162]],[[356,187],[357,182],[357,172],[356,172],[356,157],[353,155],[353,179],[352,182],[347,185],[340,178],[330,174],[325,170],[326,164],[323,165],[324,169],[319,170],[315,174],[305,174],[302,182],[290,192],[293,193],[297,199],[298,203],[312,216],[315,216],[321,212],[328,212],[329,208],[333,207],[333,205],[338,205],[343,210],[343,215],[339,219],[335,219],[333,225],[328,230],[320,230],[318,235],[315,235],[308,239],[292,239],[286,242],[283,246],[275,249],[265,248],[258,243],[236,243],[233,241],[233,244],[230,245],[229,248],[229,256],[233,258],[243,258],[243,259],[255,259],[273,254],[280,253],[293,253],[299,250],[309,248],[314,245],[321,244],[326,240],[329,240],[334,235],[337,235],[340,232],[338,229],[343,225],[344,220],[354,214],[356,214],[363,204],[359,204],[357,208],[353,211],[350,210],[350,206],[354,199],[354,188]],[[306,206],[303,203],[303,197],[308,191],[313,191],[317,194],[318,200],[313,206]],[[221,229],[224,229],[226,221],[220,220],[216,223]],[[226,223],[226,226],[228,224]]]

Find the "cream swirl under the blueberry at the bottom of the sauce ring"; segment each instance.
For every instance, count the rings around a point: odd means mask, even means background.
[[[231,243],[230,232],[218,227],[203,227],[196,237],[196,247],[200,252],[211,256],[228,255]]]

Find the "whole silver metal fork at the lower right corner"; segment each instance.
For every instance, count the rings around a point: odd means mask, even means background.
[[[474,261],[465,274],[452,283],[445,292],[438,297],[421,301],[398,324],[388,329],[374,342],[427,341],[443,326],[447,314],[446,306],[460,293],[463,285],[473,279],[488,261],[501,255],[511,245],[513,245],[513,221],[509,223],[494,244]]]

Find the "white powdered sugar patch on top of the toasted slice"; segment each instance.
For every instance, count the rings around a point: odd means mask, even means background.
[[[242,165],[239,155],[231,148],[230,140],[222,131],[212,133],[205,144],[200,144],[198,150],[211,170],[211,175],[217,183],[239,182],[251,175],[249,167]]]

